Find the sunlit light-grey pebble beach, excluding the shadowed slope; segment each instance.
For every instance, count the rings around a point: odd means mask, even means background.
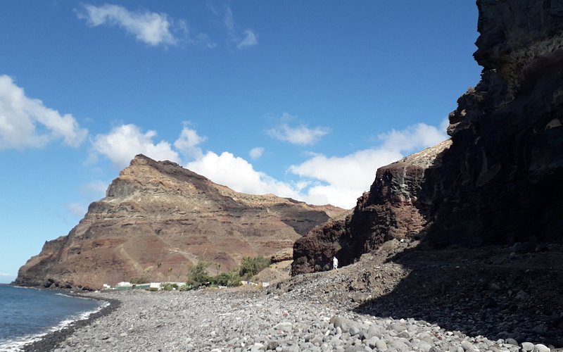
[[[77,328],[53,351],[520,351],[511,341],[467,337],[414,319],[356,314],[291,292],[223,289],[92,296],[120,301],[120,306]],[[527,347],[549,351],[540,344]]]

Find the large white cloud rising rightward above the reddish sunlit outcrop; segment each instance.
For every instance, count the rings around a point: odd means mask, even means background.
[[[378,168],[448,139],[437,127],[419,123],[405,130],[391,130],[377,137],[380,146],[355,151],[347,156],[312,156],[308,161],[292,165],[289,172],[311,180],[305,199],[311,203],[331,203],[343,208],[355,206],[355,200],[369,190]]]

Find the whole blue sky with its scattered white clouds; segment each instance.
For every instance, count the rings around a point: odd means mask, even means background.
[[[0,282],[137,153],[351,208],[445,139],[474,1],[3,1]]]

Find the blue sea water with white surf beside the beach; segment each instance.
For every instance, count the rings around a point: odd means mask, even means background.
[[[86,319],[106,304],[61,291],[0,284],[0,351],[19,351],[24,344]]]

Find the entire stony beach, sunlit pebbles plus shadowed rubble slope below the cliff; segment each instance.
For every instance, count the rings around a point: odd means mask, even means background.
[[[563,329],[553,325],[559,296],[550,293],[559,267],[544,279],[530,269],[561,263],[559,252],[386,259],[402,250],[265,289],[87,293],[110,306],[25,351],[563,351]],[[490,266],[479,267],[491,253]]]

